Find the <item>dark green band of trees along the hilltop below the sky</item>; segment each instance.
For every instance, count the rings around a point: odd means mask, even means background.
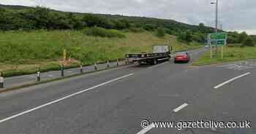
[[[157,31],[178,36],[182,42],[206,42],[207,33],[214,28],[199,25],[178,23],[175,20],[162,20],[150,17],[127,17],[121,15],[98,15],[88,13],[59,12],[42,7],[0,6],[0,31],[11,30],[81,30],[89,27],[131,31]],[[241,44],[245,40],[256,40],[255,36],[246,33],[229,32],[228,43]]]

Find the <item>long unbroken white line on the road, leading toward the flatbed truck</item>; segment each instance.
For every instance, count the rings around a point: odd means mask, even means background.
[[[20,114],[15,114],[15,115],[13,115],[12,117],[7,117],[7,118],[5,118],[5,119],[1,119],[1,120],[0,120],[0,123],[6,122],[6,121],[8,121],[8,120],[10,120],[10,119],[14,119],[14,118],[16,118],[16,117],[20,117],[20,116],[22,116],[23,114],[28,114],[28,113],[30,113],[30,112],[32,112],[32,111],[36,111],[36,110],[38,110],[38,109],[42,109],[43,107],[49,106],[49,105],[51,105],[51,104],[53,104],[53,103],[59,103],[60,101],[64,101],[64,100],[67,99],[67,98],[72,98],[72,97],[75,96],[75,95],[79,95],[79,94],[81,94],[81,93],[83,93],[83,92],[88,92],[89,90],[93,90],[94,88],[102,87],[102,86],[105,85],[105,84],[109,84],[109,83],[111,83],[111,82],[116,82],[116,81],[118,81],[119,79],[124,79],[124,78],[126,78],[126,77],[128,77],[128,76],[132,76],[132,75],[133,75],[133,74],[127,74],[127,75],[125,75],[125,76],[121,76],[121,77],[118,77],[118,78],[116,78],[116,79],[112,79],[112,80],[110,80],[110,81],[108,81],[108,82],[104,82],[104,83],[102,83],[102,84],[98,84],[98,85],[96,85],[96,86],[94,86],[94,87],[90,87],[90,88],[87,88],[87,89],[85,89],[85,90],[83,89],[83,90],[80,91],[80,92],[75,92],[75,93],[73,93],[73,94],[71,94],[71,95],[67,95],[66,97],[60,98],[60,99],[58,99],[58,100],[56,100],[56,101],[51,101],[51,102],[45,103],[45,104],[43,104],[43,105],[41,105],[41,106],[37,106],[37,107],[35,107],[35,108],[33,108],[33,109],[29,109],[28,111],[23,111],[23,112],[21,112]]]

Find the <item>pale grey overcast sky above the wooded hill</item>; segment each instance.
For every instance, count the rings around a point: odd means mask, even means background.
[[[49,7],[69,12],[93,12],[158,17],[214,26],[216,0],[0,0],[0,4]],[[219,23],[229,31],[256,34],[256,0],[219,0]]]

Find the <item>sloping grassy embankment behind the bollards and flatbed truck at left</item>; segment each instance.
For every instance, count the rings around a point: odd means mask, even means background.
[[[164,38],[154,33],[124,32],[124,38],[87,36],[82,31],[8,31],[0,33],[0,71],[5,76],[32,74],[41,71],[59,70],[62,52],[67,49],[71,61],[66,66],[78,66],[106,60],[124,58],[127,52],[151,52],[154,44],[169,42],[175,50],[188,50],[197,44],[184,44],[175,36]]]

